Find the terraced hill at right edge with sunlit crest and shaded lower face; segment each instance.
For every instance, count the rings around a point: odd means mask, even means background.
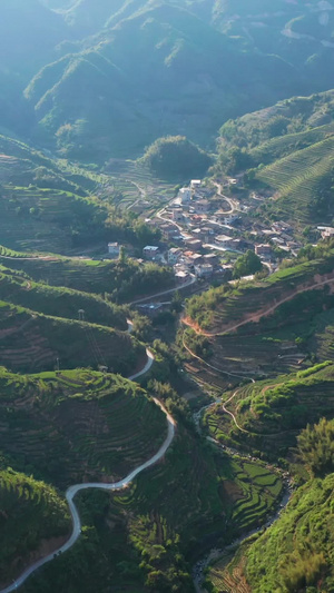
[[[307,423],[334,417],[333,385],[334,366],[330,362],[248,384],[239,387],[226,406],[248,434],[238,431],[222,404],[206,412],[204,426],[223,443],[232,438],[269,455],[285,455]]]

